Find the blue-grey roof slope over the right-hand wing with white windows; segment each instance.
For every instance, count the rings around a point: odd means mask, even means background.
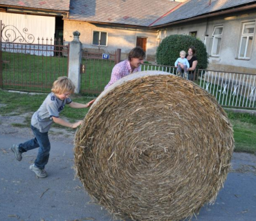
[[[174,10],[169,15],[158,19],[153,26],[160,26],[165,23],[189,19],[253,2],[256,3],[255,0],[188,0],[185,1],[177,10]]]

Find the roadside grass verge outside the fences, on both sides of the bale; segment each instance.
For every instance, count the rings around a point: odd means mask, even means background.
[[[13,126],[30,126],[30,117],[33,112],[37,111],[47,94],[27,95],[19,93],[8,93],[6,90],[0,89],[0,112],[1,115],[22,115],[31,113],[26,117],[24,124],[13,124]],[[82,95],[73,95],[71,97],[74,102],[87,103],[92,98]],[[66,106],[61,113],[61,117],[68,119],[70,122],[83,119],[88,108],[75,109]],[[256,153],[256,116],[246,113],[232,113],[227,111],[228,118],[233,125],[235,138],[235,151]],[[1,122],[0,122],[1,124]],[[54,124],[55,127],[61,127]]]

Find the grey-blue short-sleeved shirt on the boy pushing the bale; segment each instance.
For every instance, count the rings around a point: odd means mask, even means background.
[[[54,93],[49,93],[43,104],[33,114],[31,125],[39,129],[41,133],[48,132],[53,123],[53,117],[59,117],[65,104],[70,104],[71,102],[72,100],[69,97],[61,100]]]

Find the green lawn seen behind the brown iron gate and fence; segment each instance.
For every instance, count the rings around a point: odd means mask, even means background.
[[[3,52],[3,61],[3,89],[47,93],[57,77],[68,74],[67,57]],[[109,82],[114,61],[82,59],[82,65],[81,92],[99,94]]]

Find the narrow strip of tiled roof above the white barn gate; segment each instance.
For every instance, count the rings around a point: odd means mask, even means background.
[[[37,8],[42,10],[69,10],[70,0],[1,0],[0,5]]]

